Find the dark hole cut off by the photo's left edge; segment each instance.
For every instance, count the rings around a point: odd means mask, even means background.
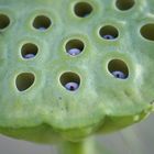
[[[10,19],[4,14],[0,14],[0,30],[6,29],[9,24]]]

